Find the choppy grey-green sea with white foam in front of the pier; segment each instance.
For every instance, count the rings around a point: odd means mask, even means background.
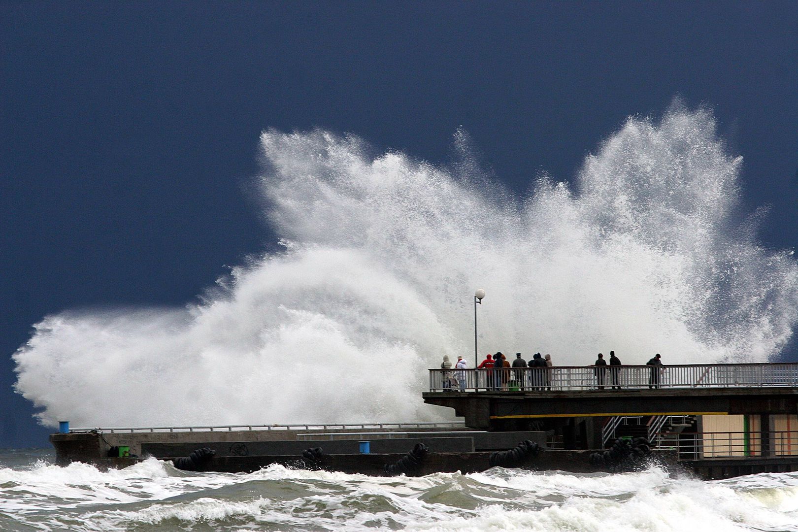
[[[98,471],[52,458],[0,451],[0,530],[798,530],[798,473],[707,482],[658,467],[496,467],[377,478],[279,466],[189,473],[156,459]]]

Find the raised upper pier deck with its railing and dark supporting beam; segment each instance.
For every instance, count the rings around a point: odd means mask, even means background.
[[[798,364],[430,369],[425,403],[471,428],[553,430],[567,448],[601,448],[619,416],[798,414]],[[796,433],[798,436],[798,433]]]

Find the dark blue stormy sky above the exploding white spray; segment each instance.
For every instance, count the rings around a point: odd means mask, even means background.
[[[266,128],[445,162],[462,126],[522,195],[678,96],[798,246],[798,2],[0,2],[0,61],[0,447],[47,445],[11,361],[45,314],[184,305],[273,249]]]

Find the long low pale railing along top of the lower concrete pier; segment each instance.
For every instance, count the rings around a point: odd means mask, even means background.
[[[297,424],[297,425],[215,425],[198,427],[78,427],[69,432],[233,432],[233,431],[329,431],[372,429],[389,430],[403,428],[460,428],[462,421],[438,421],[419,423],[359,423],[359,424]]]

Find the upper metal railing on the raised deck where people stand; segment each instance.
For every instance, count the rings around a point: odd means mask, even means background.
[[[430,369],[430,392],[798,386],[798,364]]]

